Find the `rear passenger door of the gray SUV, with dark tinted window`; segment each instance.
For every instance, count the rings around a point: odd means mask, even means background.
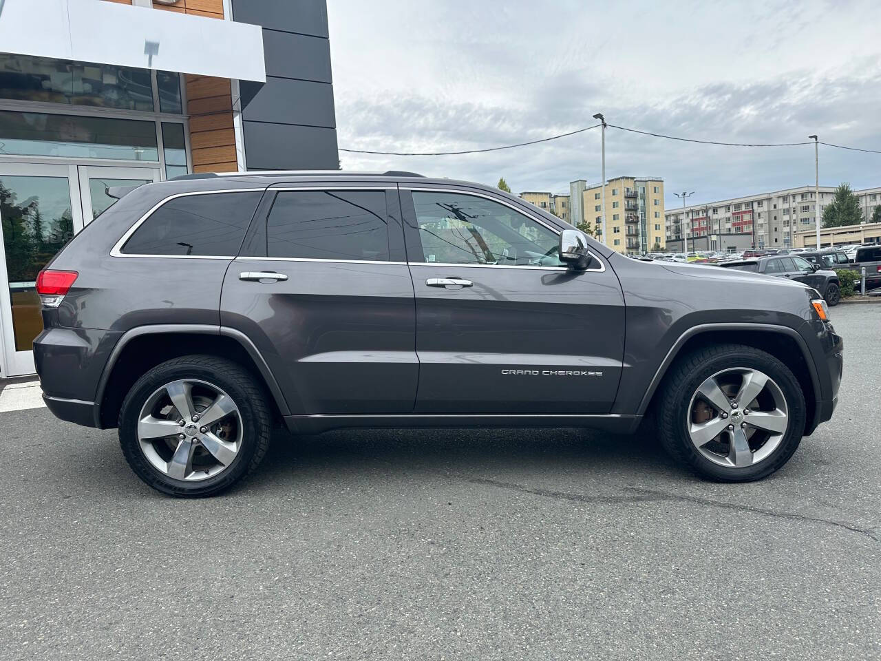
[[[292,414],[411,412],[415,308],[395,184],[268,189],[220,314],[263,353]]]

